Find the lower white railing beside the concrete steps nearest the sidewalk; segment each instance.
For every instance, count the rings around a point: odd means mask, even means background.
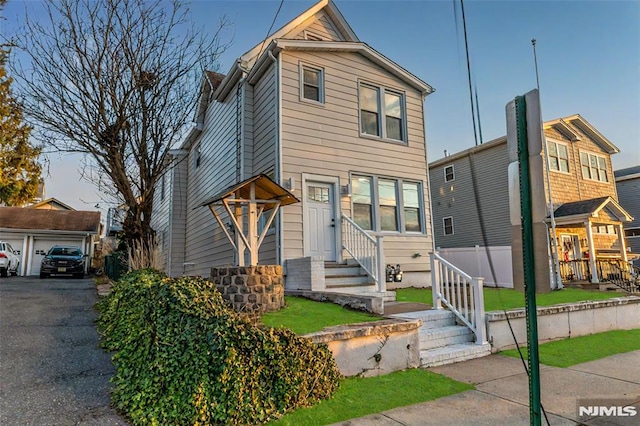
[[[444,304],[476,336],[477,344],[487,343],[484,318],[484,278],[471,277],[438,253],[431,253],[433,308]]]

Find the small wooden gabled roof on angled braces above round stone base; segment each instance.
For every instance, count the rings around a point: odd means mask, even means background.
[[[202,203],[222,228],[236,251],[238,266],[245,266],[245,249],[249,250],[249,265],[258,264],[258,250],[276,213],[282,206],[298,203],[291,192],[278,185],[267,175],[260,174],[225,189],[220,194]],[[222,206],[231,219],[235,236],[232,236],[216,207]],[[262,232],[258,232],[258,221],[268,214]],[[246,225],[246,232],[245,232]]]

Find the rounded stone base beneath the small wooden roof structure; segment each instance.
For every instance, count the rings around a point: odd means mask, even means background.
[[[238,312],[264,313],[284,307],[282,266],[220,266],[211,281]]]

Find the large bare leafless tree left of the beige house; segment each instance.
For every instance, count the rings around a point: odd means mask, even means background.
[[[26,53],[14,75],[35,135],[84,153],[84,177],[123,203],[125,240],[146,241],[154,185],[192,120],[205,69],[227,44],[194,30],[180,0],[44,0],[13,42]]]

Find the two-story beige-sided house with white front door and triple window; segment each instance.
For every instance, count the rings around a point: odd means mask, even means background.
[[[208,276],[238,263],[201,204],[262,173],[301,200],[281,210],[260,249],[261,264],[285,265],[288,288],[311,274],[293,274],[292,260],[353,261],[343,249],[358,235],[350,220],[383,237],[384,263],[400,265],[402,285],[430,285],[423,104],[432,91],[361,42],[327,0],[260,40],[227,75],[207,72],[196,126],[155,191],[167,272]]]

